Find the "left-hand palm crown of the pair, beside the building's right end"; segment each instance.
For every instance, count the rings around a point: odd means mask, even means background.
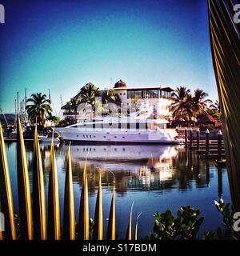
[[[184,86],[178,87],[171,95],[171,101],[170,108],[173,111],[173,117],[184,118],[186,121],[190,121],[190,118],[193,116],[190,90]]]

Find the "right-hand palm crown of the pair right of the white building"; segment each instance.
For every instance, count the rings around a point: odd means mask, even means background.
[[[206,99],[208,94],[203,90],[194,90],[194,95],[191,98],[191,108],[194,118],[198,118],[200,114],[208,114],[208,104],[212,103],[210,99]]]

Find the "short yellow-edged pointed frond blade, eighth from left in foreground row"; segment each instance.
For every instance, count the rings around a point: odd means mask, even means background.
[[[108,218],[107,236],[108,240],[116,239],[116,212],[115,212],[115,186],[112,194],[110,213]]]

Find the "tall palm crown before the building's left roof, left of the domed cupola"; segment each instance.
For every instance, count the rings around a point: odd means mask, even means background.
[[[98,88],[89,82],[82,88],[79,100],[81,103],[89,104],[95,110],[96,97],[98,97]]]

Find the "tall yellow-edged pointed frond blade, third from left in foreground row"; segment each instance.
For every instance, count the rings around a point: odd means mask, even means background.
[[[46,202],[37,126],[34,133],[33,217],[34,239],[46,240]]]

